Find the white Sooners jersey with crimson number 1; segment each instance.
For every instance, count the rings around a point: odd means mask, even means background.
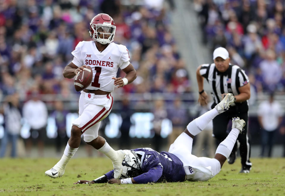
[[[71,53],[72,63],[77,67],[90,66],[93,71],[93,80],[86,88],[89,90],[103,90],[112,92],[118,68],[124,69],[130,63],[129,51],[124,45],[110,43],[104,51],[99,52],[95,41],[81,41]]]

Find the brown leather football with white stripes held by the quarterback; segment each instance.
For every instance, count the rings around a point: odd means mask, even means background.
[[[90,66],[84,67],[84,71],[78,72],[75,76],[74,87],[76,91],[81,91],[87,88],[93,78],[93,72]]]

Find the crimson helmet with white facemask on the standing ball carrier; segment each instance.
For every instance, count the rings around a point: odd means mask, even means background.
[[[101,28],[100,30],[98,30]],[[97,14],[90,22],[90,36],[101,44],[111,43],[114,40],[116,26],[112,17],[108,14]],[[99,35],[103,34],[103,38]],[[106,38],[109,35],[108,38]]]

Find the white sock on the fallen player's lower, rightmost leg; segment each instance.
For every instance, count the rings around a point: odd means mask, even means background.
[[[231,154],[232,149],[234,148],[239,133],[239,129],[233,128],[231,132],[229,132],[229,135],[226,137],[226,139],[224,139],[224,141],[219,144],[216,150],[216,154],[219,153],[221,155],[224,155],[226,158],[229,158],[229,155]]]

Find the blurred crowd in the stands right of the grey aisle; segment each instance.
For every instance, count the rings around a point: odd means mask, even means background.
[[[283,0],[195,0],[204,43],[227,48],[256,92],[285,90]]]

